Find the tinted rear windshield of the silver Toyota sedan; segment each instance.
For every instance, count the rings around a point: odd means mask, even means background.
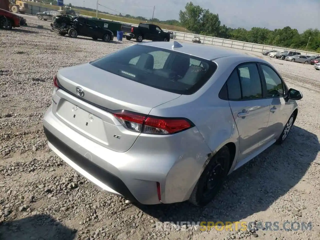
[[[199,90],[217,69],[210,60],[141,44],[90,64],[141,84],[184,95]]]

